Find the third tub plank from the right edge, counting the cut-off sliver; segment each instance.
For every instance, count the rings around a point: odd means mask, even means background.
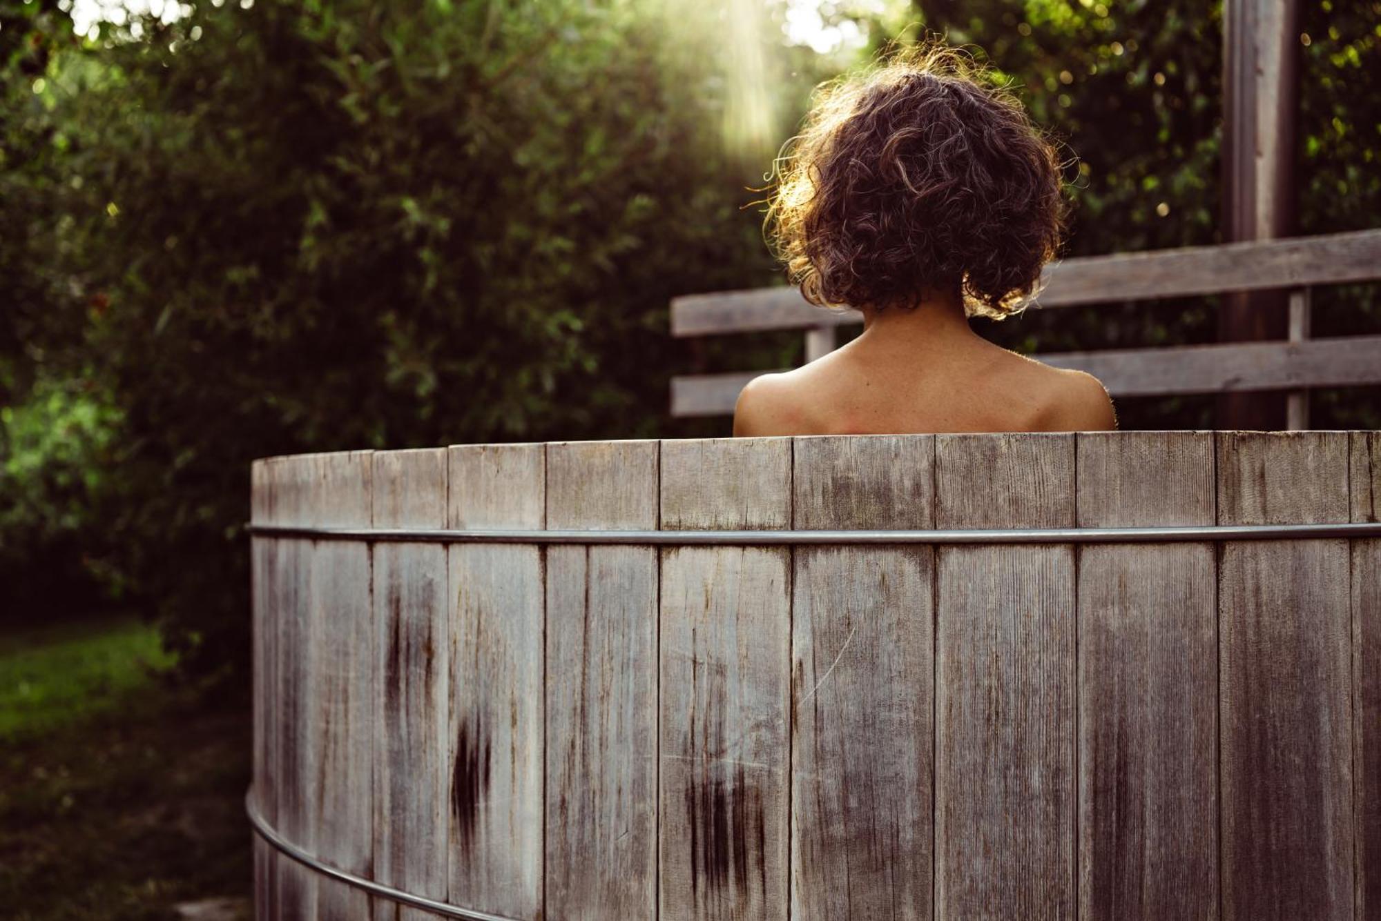
[[[1214,524],[1210,432],[1081,433],[1079,527]],[[1218,917],[1214,545],[1079,549],[1081,918]]]

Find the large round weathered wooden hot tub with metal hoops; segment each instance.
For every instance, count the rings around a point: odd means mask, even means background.
[[[257,462],[258,917],[1378,918],[1381,536],[1087,531],[1378,517],[1360,432]]]

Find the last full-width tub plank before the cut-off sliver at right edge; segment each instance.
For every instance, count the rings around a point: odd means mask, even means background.
[[[1218,436],[1219,524],[1345,521],[1346,433]],[[1346,540],[1226,542],[1219,564],[1226,921],[1353,917]]]

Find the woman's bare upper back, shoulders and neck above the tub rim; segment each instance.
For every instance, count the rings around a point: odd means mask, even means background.
[[[1117,425],[1095,378],[994,346],[947,305],[869,320],[844,347],[754,379],[739,397],[735,434],[1088,432]]]

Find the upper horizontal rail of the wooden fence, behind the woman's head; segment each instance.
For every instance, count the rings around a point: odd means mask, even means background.
[[[1381,279],[1381,230],[1065,259],[1045,269],[1037,307],[1297,288]],[[807,330],[862,323],[822,310],[797,288],[695,294],[671,301],[671,335]]]

